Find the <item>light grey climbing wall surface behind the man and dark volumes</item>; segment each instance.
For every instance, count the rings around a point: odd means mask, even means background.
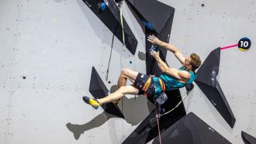
[[[247,52],[221,50],[218,81],[237,118],[234,129],[196,84],[184,105],[232,143],[242,143],[241,131],[255,137],[254,1],[161,2],[175,8],[170,43],[186,56],[198,53],[203,61],[216,47],[251,39]],[[143,29],[126,3],[123,16],[138,40],[137,52],[132,56],[115,37],[106,81],[112,33],[81,0],[0,2],[0,143],[121,143],[133,132],[154,108],[147,98],[126,95],[119,101],[125,119],[81,99],[92,97],[93,66],[109,89],[123,67],[146,72]],[[167,62],[180,67],[172,53]],[[68,123],[84,132],[78,140]]]

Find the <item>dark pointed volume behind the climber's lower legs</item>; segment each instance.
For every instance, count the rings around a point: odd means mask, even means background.
[[[103,83],[102,79],[99,77],[99,74],[95,70],[95,67],[92,67],[89,91],[94,98],[104,98],[108,94],[108,89]],[[104,111],[111,115],[116,115],[120,118],[124,118],[122,111],[120,111],[117,105],[107,103],[102,105],[102,108],[104,109]]]

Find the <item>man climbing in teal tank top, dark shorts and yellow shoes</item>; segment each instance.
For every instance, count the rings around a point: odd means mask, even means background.
[[[154,98],[156,98],[163,91],[171,91],[192,84],[196,77],[195,70],[201,65],[201,60],[197,54],[192,53],[189,57],[184,57],[176,46],[171,43],[164,43],[154,35],[148,36],[147,40],[152,43],[153,46],[161,46],[174,53],[175,57],[182,63],[182,67],[179,69],[168,67],[167,64],[161,60],[161,57],[159,57],[159,51],[150,50],[150,55],[157,61],[157,65],[163,74],[159,77],[154,77],[124,68],[119,75],[117,91],[100,99],[84,96],[83,100],[85,103],[97,109],[100,105],[118,101],[125,94],[153,95]],[[126,85],[127,79],[133,84]]]

